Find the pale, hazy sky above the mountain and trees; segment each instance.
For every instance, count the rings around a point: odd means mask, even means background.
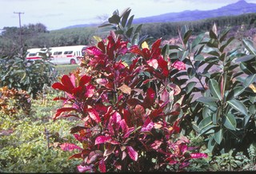
[[[86,23],[102,23],[114,10],[131,8],[134,18],[183,10],[212,10],[238,0],[0,0],[0,29],[18,26],[22,12],[22,26],[42,23],[47,30]],[[246,0],[256,3],[256,0]]]

